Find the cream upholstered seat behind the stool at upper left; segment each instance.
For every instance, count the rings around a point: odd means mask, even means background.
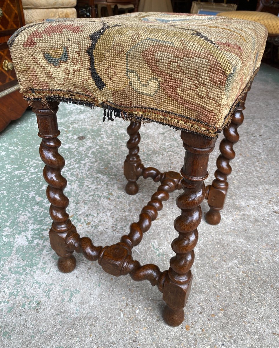
[[[47,18],[77,18],[77,0],[22,0],[25,23]]]

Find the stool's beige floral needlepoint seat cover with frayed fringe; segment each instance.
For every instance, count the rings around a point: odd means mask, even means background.
[[[260,66],[259,23],[228,17],[131,13],[27,25],[9,40],[27,100],[102,105],[215,137]]]

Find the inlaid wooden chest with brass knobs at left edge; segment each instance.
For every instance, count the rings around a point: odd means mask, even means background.
[[[19,85],[7,45],[10,35],[24,24],[21,1],[0,0],[0,132],[11,120],[21,117],[28,107],[18,92]]]

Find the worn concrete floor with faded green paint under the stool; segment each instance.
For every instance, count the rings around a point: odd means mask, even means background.
[[[199,226],[185,321],[175,328],[162,320],[162,295],[149,282],[114,278],[81,254],[75,254],[72,273],[57,270],[35,117],[29,111],[10,124],[0,134],[0,347],[279,347],[278,87],[279,70],[263,65],[234,147],[222,221],[210,226],[202,220]],[[102,114],[66,104],[58,113],[68,212],[80,235],[95,245],[117,243],[157,189],[141,178],[139,193],[126,195],[128,123],[103,124]],[[141,136],[145,166],[182,167],[179,132],[148,124]],[[218,145],[207,183],[217,156]],[[176,195],[134,248],[142,264],[168,268],[177,236],[173,220],[180,214]],[[202,208],[207,210],[206,201]]]

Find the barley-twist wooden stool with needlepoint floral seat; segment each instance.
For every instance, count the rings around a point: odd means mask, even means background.
[[[133,13],[47,20],[27,25],[10,38],[18,82],[37,115],[42,138],[40,156],[46,165],[43,176],[53,220],[50,244],[59,256],[59,270],[75,268],[75,251],[90,261],[98,260],[111,275],[147,279],[163,293],[165,321],[173,326],[182,323],[192,283],[200,204],[207,197],[207,221],[220,221],[231,173],[229,161],[234,158],[232,147],[238,141],[237,127],[243,121],[246,94],[260,66],[266,35],[263,25],[240,19]],[[58,153],[56,119],[61,101],[99,105],[104,108],[104,119],[129,120],[126,192],[138,192],[140,176],[159,183],[139,220],[117,244],[95,246],[90,238],[81,238],[66,213],[69,200],[63,190],[67,181],[61,175],[65,162]],[[186,150],[181,174],[161,173],[141,163],[138,131],[143,121],[181,130]],[[206,190],[209,154],[222,129],[225,139],[216,179]],[[169,193],[181,188],[176,201],[181,215],[174,221],[178,237],[172,242],[175,255],[170,268],[162,272],[153,264],[141,266],[131,255],[133,247],[141,242]]]

